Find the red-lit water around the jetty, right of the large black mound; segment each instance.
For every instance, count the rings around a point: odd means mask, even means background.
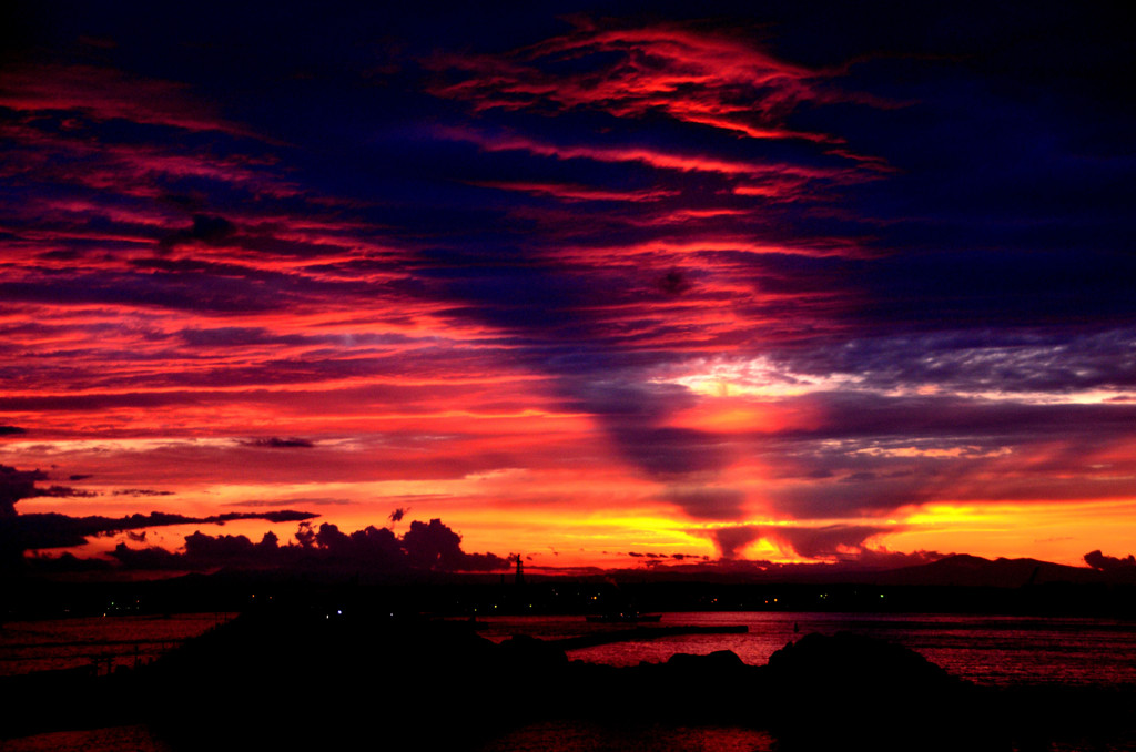
[[[1112,619],[966,615],[713,612],[666,613],[660,625],[746,625],[747,634],[683,635],[569,651],[611,666],[661,662],[675,653],[732,650],[761,666],[785,643],[810,633],[852,630],[897,642],[951,674],[979,684],[1136,685],[1136,625]],[[496,617],[482,634],[556,638],[623,627],[583,617]],[[799,632],[794,632],[794,628]]]

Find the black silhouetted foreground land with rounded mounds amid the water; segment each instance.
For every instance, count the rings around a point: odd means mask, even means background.
[[[724,651],[613,668],[531,637],[494,644],[468,624],[385,610],[252,610],[151,665],[12,677],[0,692],[0,740],[142,724],[175,751],[470,750],[561,718],[768,729],[786,751],[1136,740],[1130,691],[974,686],[853,634],[805,635],[767,666]]]

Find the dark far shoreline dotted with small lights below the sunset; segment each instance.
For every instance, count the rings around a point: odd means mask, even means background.
[[[381,602],[398,613],[592,615],[626,609],[674,611],[808,611],[1093,617],[1136,621],[1136,585],[1043,583],[1028,587],[952,584],[707,582],[445,576],[423,582],[368,582],[349,574],[219,571],[137,582],[62,582],[0,577],[5,621],[73,616],[244,612],[266,600],[339,608]]]

